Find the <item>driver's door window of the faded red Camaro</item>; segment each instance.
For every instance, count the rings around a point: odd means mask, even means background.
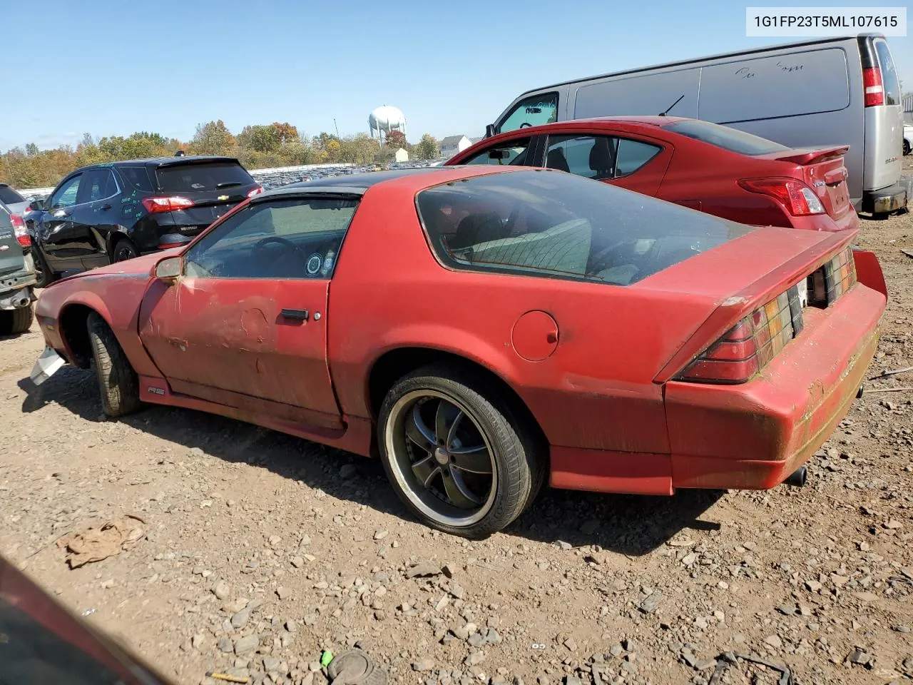
[[[358,199],[294,198],[248,205],[186,254],[188,277],[329,279]]]

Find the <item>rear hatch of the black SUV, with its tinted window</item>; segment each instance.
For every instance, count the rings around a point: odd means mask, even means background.
[[[155,182],[158,195],[177,195],[194,203],[171,211],[175,227],[185,236],[195,236],[257,187],[243,166],[230,162],[160,166]]]

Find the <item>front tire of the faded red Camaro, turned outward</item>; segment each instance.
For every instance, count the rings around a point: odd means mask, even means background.
[[[116,418],[135,412],[140,408],[139,379],[121,343],[108,323],[94,311],[89,313],[86,326],[105,414]]]

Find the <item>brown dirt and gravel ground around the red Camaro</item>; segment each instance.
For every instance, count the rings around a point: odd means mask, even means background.
[[[913,365],[913,216],[861,242],[891,289],[866,387],[913,385],[876,378]],[[726,651],[804,684],[913,677],[911,392],[857,401],[804,489],[551,490],[468,543],[412,521],[370,460],[190,411],[105,421],[71,368],[30,396],[41,348],[37,326],[0,342],[0,553],[178,683],[319,685],[321,650],[357,642],[396,683],[707,683]],[[58,538],[126,514],[139,542],[68,568]]]

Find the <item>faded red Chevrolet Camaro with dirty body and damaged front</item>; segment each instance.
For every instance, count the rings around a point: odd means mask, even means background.
[[[470,536],[546,478],[766,489],[875,353],[886,300],[854,237],[518,167],[293,184],[49,287],[33,378],[94,360],[110,416],[190,407],[377,454],[422,520]]]

